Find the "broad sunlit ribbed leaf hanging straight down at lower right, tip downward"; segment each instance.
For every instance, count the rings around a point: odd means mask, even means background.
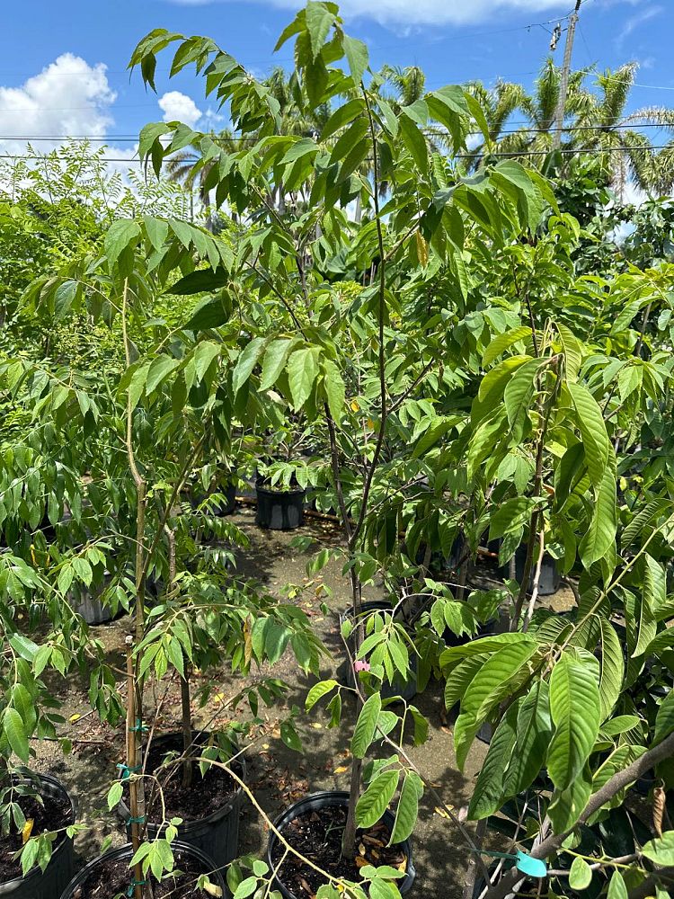
[[[556,788],[568,788],[580,775],[599,734],[599,708],[599,686],[590,663],[563,653],[550,677],[554,734],[547,769]]]

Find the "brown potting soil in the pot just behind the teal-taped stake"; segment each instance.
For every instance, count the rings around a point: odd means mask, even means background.
[[[170,762],[164,770],[160,770],[164,759],[169,752],[182,755],[182,738],[178,734],[170,734],[162,737],[156,743],[150,745],[147,757],[146,774],[155,774],[164,790],[164,806],[166,817],[179,817],[183,821],[198,821],[209,814],[217,812],[226,806],[235,795],[238,785],[224,768],[211,765],[204,777],[198,762],[192,762],[192,782],[190,787],[182,784],[182,764],[178,761]],[[198,756],[200,749],[194,747],[192,755]],[[237,773],[240,773],[238,771]],[[168,778],[168,779],[167,779]],[[153,793],[153,781],[147,781],[146,795],[151,797]],[[162,803],[155,796],[155,801],[149,809],[149,820],[161,823]]]

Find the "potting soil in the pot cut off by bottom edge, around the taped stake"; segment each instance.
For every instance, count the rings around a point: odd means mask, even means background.
[[[197,889],[197,880],[204,871],[199,859],[178,854],[175,857],[177,872],[174,876],[156,881],[148,872],[155,899],[210,899],[206,890]],[[102,859],[92,867],[89,877],[77,887],[75,899],[112,899],[112,896],[126,896],[133,879],[129,859]]]

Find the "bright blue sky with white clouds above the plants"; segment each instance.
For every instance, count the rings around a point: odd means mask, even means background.
[[[375,67],[419,65],[430,88],[501,76],[530,85],[548,52],[549,31],[573,0],[344,0],[347,31],[366,40]],[[129,81],[131,50],[161,26],[213,37],[255,74],[288,66],[290,45],[273,46],[297,8],[293,0],[24,0],[4,4],[0,38],[0,152],[21,152],[11,137],[107,135],[131,156],[147,121],[181,118],[217,126],[199,79],[170,81],[160,58],[157,92]],[[552,20],[552,21],[550,21]],[[543,24],[541,24],[543,23]],[[563,22],[564,24],[564,22]],[[674,105],[672,0],[585,0],[574,66],[616,67],[637,60],[631,106]],[[563,40],[554,58],[561,63]],[[656,89],[661,88],[661,89]],[[664,89],[667,88],[667,89]],[[35,147],[49,148],[49,142]]]

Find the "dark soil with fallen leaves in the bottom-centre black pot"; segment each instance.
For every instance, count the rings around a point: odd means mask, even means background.
[[[406,871],[407,859],[400,846],[388,846],[391,832],[385,823],[379,822],[367,831],[356,832],[356,859],[341,858],[341,834],[346,824],[346,806],[324,806],[319,810],[307,810],[288,821],[282,828],[284,838],[293,849],[301,852],[319,868],[334,877],[358,883],[359,868],[373,865],[390,865]],[[272,850],[272,860],[278,864],[285,848],[279,841]],[[318,871],[308,868],[296,856],[288,853],[278,873],[279,880],[296,896],[296,899],[314,899],[319,886],[326,881]]]

